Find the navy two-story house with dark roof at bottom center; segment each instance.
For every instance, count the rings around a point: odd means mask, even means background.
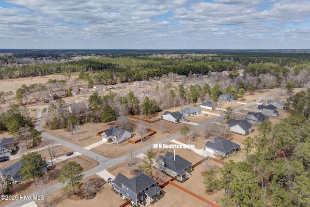
[[[134,204],[144,205],[161,195],[161,188],[156,183],[155,179],[141,171],[130,179],[119,173],[114,179],[114,189],[132,199]]]

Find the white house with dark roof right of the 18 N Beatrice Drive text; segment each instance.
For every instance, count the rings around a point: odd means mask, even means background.
[[[228,158],[232,153],[240,150],[240,145],[229,140],[215,138],[213,142],[208,141],[205,143],[205,150],[212,154],[226,156]]]

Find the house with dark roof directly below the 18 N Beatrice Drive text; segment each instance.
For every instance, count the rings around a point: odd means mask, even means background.
[[[177,179],[184,180],[188,177],[188,171],[192,169],[192,163],[179,155],[173,155],[167,152],[165,156],[158,155],[155,160],[155,166],[171,176],[177,176]]]

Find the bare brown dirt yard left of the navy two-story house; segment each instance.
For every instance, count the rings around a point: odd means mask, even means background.
[[[52,207],[119,207],[125,203],[125,200],[122,199],[122,197],[111,190],[111,185],[98,175],[92,175],[86,179],[83,179],[82,183],[84,184],[87,180],[92,180],[95,185],[96,196],[93,199],[84,198],[83,190],[76,196],[73,196],[72,194],[63,195],[60,190],[51,193],[47,198],[47,202],[52,203]],[[36,201],[36,204],[38,206],[42,205],[40,204],[40,201]]]

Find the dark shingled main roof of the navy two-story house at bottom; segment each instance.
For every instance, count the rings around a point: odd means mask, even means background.
[[[130,191],[138,193],[154,183],[156,183],[155,179],[139,171],[136,176],[124,181],[122,184],[129,188]]]

